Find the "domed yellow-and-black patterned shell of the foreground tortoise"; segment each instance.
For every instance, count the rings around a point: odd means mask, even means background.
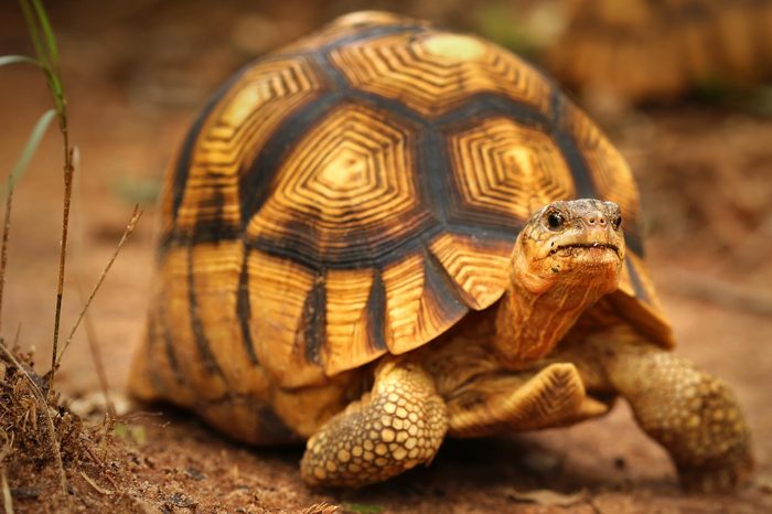
[[[498,300],[524,222],[573,197],[621,206],[615,301],[671,344],[633,176],[555,84],[472,35],[341,18],[242,69],[191,128],[167,175],[148,355],[219,377],[215,397],[409,352]]]

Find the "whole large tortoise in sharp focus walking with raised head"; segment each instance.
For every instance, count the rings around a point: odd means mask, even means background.
[[[344,15],[227,82],[164,191],[130,390],[248,443],[305,439],[310,485],[383,481],[446,437],[566,426],[616,395],[684,484],[750,473],[732,393],[669,352],[631,171],[495,44]]]

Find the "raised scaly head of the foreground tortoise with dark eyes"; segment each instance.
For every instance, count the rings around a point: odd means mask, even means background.
[[[624,235],[619,205],[600,200],[571,200],[545,206],[518,237],[515,280],[534,293],[571,285],[601,295],[619,285]]]

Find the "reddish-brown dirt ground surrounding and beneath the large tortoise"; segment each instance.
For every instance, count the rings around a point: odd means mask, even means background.
[[[96,281],[131,205],[146,208],[88,317],[114,397],[126,385],[152,279],[151,199],[196,106],[250,56],[358,7],[334,2],[310,11],[297,0],[278,3],[52,6],[81,156],[65,335],[83,303],[78,289]],[[412,2],[388,6],[432,15]],[[0,6],[0,55],[28,52],[17,6]],[[0,170],[11,168],[49,105],[35,69],[0,68]],[[448,441],[431,467],[354,492],[307,489],[297,471],[301,449],[239,446],[186,413],[156,407],[120,420],[117,436],[100,439],[97,454],[69,472],[74,506],[116,513],[300,512],[314,505],[309,512],[772,512],[772,118],[752,107],[686,103],[625,111],[604,124],[641,183],[647,258],[677,351],[729,383],[752,426],[758,471],[739,494],[682,493],[665,452],[622,404],[568,429]],[[18,334],[22,349],[34,349],[41,373],[49,368],[54,319],[61,169],[61,141],[52,130],[14,196],[2,311],[6,340]],[[85,333],[74,339],[56,377],[56,389],[67,400],[81,399],[73,406],[81,410],[99,390]],[[52,501],[55,480],[44,464],[37,475],[9,475],[14,512],[63,508]]]

